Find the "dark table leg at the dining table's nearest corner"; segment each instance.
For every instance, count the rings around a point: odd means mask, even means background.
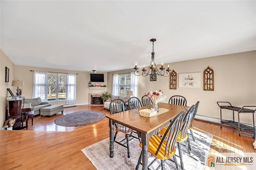
[[[142,142],[142,170],[148,169],[148,143],[149,134],[141,133]]]

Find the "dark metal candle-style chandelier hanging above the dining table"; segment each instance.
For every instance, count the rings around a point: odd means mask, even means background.
[[[160,76],[164,76],[164,77],[169,77],[170,76],[170,67],[168,65],[167,69],[166,69],[166,73],[164,71],[164,65],[163,63],[161,64],[161,67],[158,68],[156,67],[156,63],[155,63],[155,52],[154,52],[154,42],[156,41],[155,38],[150,40],[153,44],[153,49],[152,49],[152,53],[151,53],[151,61],[150,61],[150,65],[148,66],[147,69],[145,69],[145,66],[142,67],[142,73],[139,74],[138,71],[138,67],[137,67],[137,63],[135,64],[134,67],[134,74],[135,75],[142,75],[143,77],[146,77],[147,75],[150,75],[150,79],[156,79],[156,75],[160,75]]]

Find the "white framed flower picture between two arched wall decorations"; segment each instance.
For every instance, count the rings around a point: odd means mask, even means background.
[[[179,87],[200,88],[201,72],[179,74]]]

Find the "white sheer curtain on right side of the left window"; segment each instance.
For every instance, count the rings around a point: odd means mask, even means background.
[[[68,74],[66,88],[66,105],[76,103],[76,74]]]

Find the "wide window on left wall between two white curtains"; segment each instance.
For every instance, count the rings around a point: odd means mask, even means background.
[[[48,73],[47,74],[47,100],[66,100],[66,78],[67,74]]]

